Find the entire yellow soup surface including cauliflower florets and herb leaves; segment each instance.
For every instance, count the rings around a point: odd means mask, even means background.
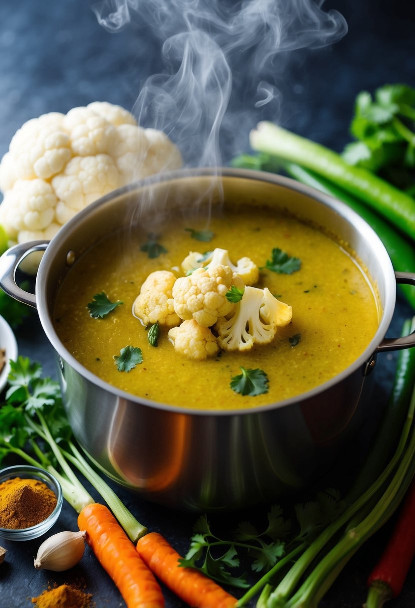
[[[69,353],[109,384],[217,410],[329,381],[368,347],[379,313],[368,277],[329,236],[241,207],[209,230],[178,215],[157,235],[108,235],[68,272],[54,318]]]

